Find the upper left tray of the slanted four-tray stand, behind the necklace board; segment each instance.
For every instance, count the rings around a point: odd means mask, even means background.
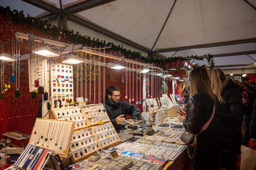
[[[81,107],[65,107],[53,109],[53,116],[57,120],[68,120],[74,122],[74,130],[90,126],[89,119]]]

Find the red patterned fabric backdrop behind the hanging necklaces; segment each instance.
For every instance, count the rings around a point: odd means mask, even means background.
[[[9,41],[10,39],[15,37],[15,33],[20,31],[23,33],[33,33],[33,35],[38,37],[44,37],[47,39],[51,39],[51,36],[47,35],[46,33],[39,31],[38,29],[28,29],[26,26],[20,25],[20,24],[14,24],[10,22],[7,18],[0,15],[0,44],[4,44],[4,42]],[[57,39],[54,39],[57,40]],[[67,42],[63,37],[61,38],[61,41]],[[20,44],[20,54],[30,54],[32,51],[32,46],[29,46],[27,44],[27,41],[23,41],[23,44]],[[12,43],[9,43],[8,45],[1,48],[1,52],[12,54]],[[42,95],[37,95],[36,99],[31,98],[31,92],[29,92],[29,69],[28,69],[28,61],[23,60],[20,61],[25,66],[25,69],[20,73],[20,97],[15,97],[15,90],[16,90],[16,83],[11,83],[11,88],[4,92],[5,93],[5,99],[0,100],[0,134],[8,132],[8,131],[19,131],[21,133],[27,133],[31,134],[31,131],[33,129],[33,122],[35,120],[35,115],[38,112],[38,106],[40,103],[40,98]],[[182,67],[182,63],[172,63],[170,68],[176,67],[176,65],[179,65]],[[5,71],[4,71],[4,82],[2,84],[6,84],[10,81],[10,75],[12,74],[12,64],[11,63],[5,63]],[[74,67],[75,69],[75,67]],[[125,72],[123,71],[117,71],[113,69],[106,69],[105,75],[103,74],[103,69],[100,69],[100,82],[99,80],[96,80],[96,99],[94,99],[94,82],[91,84],[91,102],[88,104],[99,103],[99,91],[98,86],[100,86],[100,101],[102,101],[102,98],[104,97],[103,89],[103,79],[106,80],[105,87],[110,85],[118,86],[121,90],[122,97],[121,99],[124,99],[128,101],[130,99],[130,93],[134,92],[134,101],[132,101],[132,104],[135,104],[136,101],[142,99],[142,92],[140,92],[140,89],[142,90],[142,87],[137,89],[136,79],[137,75],[134,73],[134,75],[130,75],[130,78],[134,78],[134,80],[131,82],[134,82],[134,85],[128,84],[128,99],[125,99],[126,96],[126,83],[121,83],[120,78],[121,76],[125,77]],[[173,75],[179,75],[181,78],[183,77],[182,71],[175,71],[173,72]],[[141,76],[140,80],[137,80],[138,82],[141,81],[141,86],[143,83],[143,78]],[[156,81],[156,78],[154,78],[153,81]],[[172,92],[171,89],[171,81],[168,81],[169,86],[169,94]],[[176,94],[182,95],[182,83],[178,82],[177,88],[175,89]],[[76,81],[74,81],[74,99],[76,98],[77,92],[76,92]],[[79,83],[78,86],[81,86]],[[3,88],[3,87],[2,87]],[[151,88],[154,88],[154,95],[152,95]],[[150,97],[159,97],[158,92],[160,92],[159,86],[150,86]],[[137,94],[139,92],[139,94]],[[79,92],[80,94],[80,92]],[[84,97],[85,97],[85,91],[83,91]],[[87,98],[89,98],[89,83],[87,82]],[[140,95],[141,94],[141,95]],[[131,95],[132,98],[132,95]],[[100,102],[101,103],[101,102]],[[141,111],[142,111],[142,105],[139,105]],[[2,135],[0,135],[0,138],[3,138]]]

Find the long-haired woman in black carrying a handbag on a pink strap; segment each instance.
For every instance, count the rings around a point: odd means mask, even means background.
[[[219,133],[218,99],[212,92],[208,69],[205,65],[190,71],[190,94],[186,116],[179,116],[184,128],[197,137],[195,147],[188,146],[194,169],[219,169],[221,135]],[[214,106],[216,107],[215,112]],[[213,117],[212,117],[213,115]],[[211,119],[212,118],[212,119]],[[203,126],[210,120],[204,131]]]

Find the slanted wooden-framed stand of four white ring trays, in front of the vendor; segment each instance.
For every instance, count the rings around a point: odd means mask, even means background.
[[[57,120],[74,122],[69,145],[74,162],[96,153],[100,148],[108,148],[120,143],[102,103],[53,109],[53,117]]]

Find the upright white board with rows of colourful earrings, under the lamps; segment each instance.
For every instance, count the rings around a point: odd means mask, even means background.
[[[74,101],[73,93],[73,67],[57,63],[51,65],[51,94],[53,108],[68,107]]]

